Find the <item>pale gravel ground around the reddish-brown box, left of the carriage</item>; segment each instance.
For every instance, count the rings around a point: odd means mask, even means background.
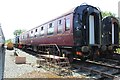
[[[43,68],[37,68],[37,58],[35,56],[29,55],[21,50],[17,50],[17,53],[19,56],[26,57],[26,64],[15,64],[14,50],[6,50],[4,78],[40,77],[40,74],[42,74],[41,78],[46,77],[45,73],[48,73],[48,71]],[[50,76],[50,73],[48,74]]]

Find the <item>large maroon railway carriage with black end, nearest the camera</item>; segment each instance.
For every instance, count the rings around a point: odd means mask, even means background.
[[[19,43],[24,49],[41,51],[53,44],[69,57],[92,58],[101,46],[101,12],[91,5],[80,5],[70,12],[24,32]],[[46,49],[45,49],[46,48]],[[53,51],[49,47],[49,51]],[[57,51],[54,51],[57,54]]]

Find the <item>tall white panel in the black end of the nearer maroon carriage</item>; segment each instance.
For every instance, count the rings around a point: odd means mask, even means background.
[[[89,16],[89,44],[95,44],[94,16]]]

